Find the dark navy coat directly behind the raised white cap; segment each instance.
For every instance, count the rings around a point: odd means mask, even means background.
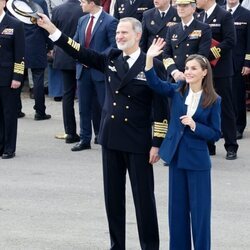
[[[34,0],[48,16],[48,7],[45,0]],[[24,24],[25,31],[25,67],[46,68],[47,52],[53,48],[48,33],[38,25]]]

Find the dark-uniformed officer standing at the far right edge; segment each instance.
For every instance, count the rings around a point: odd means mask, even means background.
[[[233,50],[234,75],[232,87],[236,115],[236,135],[237,139],[241,139],[247,124],[244,76],[250,73],[250,11],[243,8],[239,0],[228,0],[226,9],[233,15],[237,35],[236,49]]]

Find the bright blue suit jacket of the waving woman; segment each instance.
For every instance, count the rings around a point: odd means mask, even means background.
[[[207,170],[211,168],[207,141],[218,141],[220,139],[220,103],[221,98],[210,107],[202,107],[202,96],[198,108],[193,115],[196,129],[193,132],[189,126],[184,126],[180,117],[186,115],[187,105],[184,96],[178,89],[185,84],[178,82],[171,84],[161,81],[154,70],[147,71],[146,77],[152,89],[171,98],[171,120],[167,135],[160,147],[159,155],[168,164],[175,157],[176,166],[190,170]]]

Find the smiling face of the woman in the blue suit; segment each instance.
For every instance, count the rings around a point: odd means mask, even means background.
[[[190,85],[199,85],[201,87],[202,79],[206,74],[207,70],[203,70],[197,60],[193,59],[186,63],[184,75],[186,82]]]

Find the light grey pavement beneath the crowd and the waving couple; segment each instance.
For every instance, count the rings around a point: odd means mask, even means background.
[[[34,121],[33,105],[24,93],[16,157],[0,159],[0,250],[109,249],[100,145],[71,152],[72,144],[55,139],[64,131],[61,103],[46,98],[52,115],[46,121]],[[223,140],[212,157],[213,250],[250,249],[250,125],[239,145],[237,160],[225,160]],[[160,249],[166,250],[168,168],[159,162],[154,175]],[[126,231],[126,249],[139,250],[129,180]]]

